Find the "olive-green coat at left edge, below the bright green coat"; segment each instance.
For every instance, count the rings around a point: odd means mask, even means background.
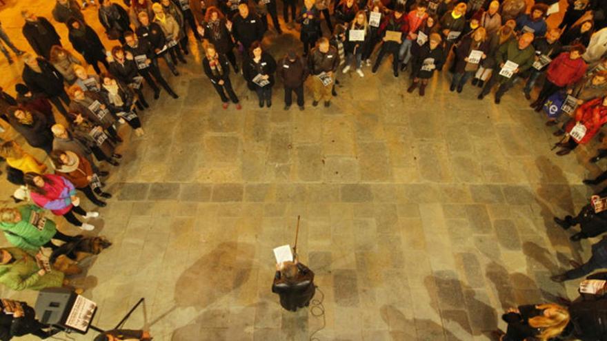
[[[56,288],[63,285],[63,272],[53,270],[40,276],[40,268],[34,257],[17,247],[7,247],[14,258],[14,262],[0,265],[0,283],[10,289],[21,291],[23,289],[41,290]]]

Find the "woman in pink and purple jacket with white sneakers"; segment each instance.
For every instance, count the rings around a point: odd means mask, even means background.
[[[76,188],[70,180],[54,174],[26,173],[23,176],[30,190],[30,198],[34,204],[48,209],[55,216],[63,216],[69,223],[85,231],[92,231],[93,225],[82,223],[74,213],[85,219],[97,218],[99,212],[87,212],[80,207],[80,198],[76,196]]]

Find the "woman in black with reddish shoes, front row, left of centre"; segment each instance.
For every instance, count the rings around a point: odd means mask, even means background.
[[[226,56],[217,53],[215,46],[212,44],[206,46],[205,57],[202,60],[202,68],[210,79],[213,87],[215,87],[215,91],[219,94],[221,102],[223,103],[223,109],[228,108],[228,96],[230,96],[230,101],[236,104],[236,109],[241,110],[242,106],[232,89],[232,82],[230,82],[230,63],[228,63]],[[228,96],[223,92],[224,89],[228,92]]]

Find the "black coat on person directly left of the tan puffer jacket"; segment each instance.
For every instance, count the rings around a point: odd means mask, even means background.
[[[42,72],[35,72],[27,64],[23,68],[21,78],[33,93],[43,93],[48,97],[54,97],[65,92],[63,89],[63,76],[45,59],[38,59],[38,65]]]

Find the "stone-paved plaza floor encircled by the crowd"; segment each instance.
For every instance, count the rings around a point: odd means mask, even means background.
[[[26,4],[47,18],[52,8],[21,0],[2,9],[21,48]],[[86,15],[98,29],[96,12]],[[299,44],[293,31],[266,39],[274,56]],[[99,304],[98,327],[144,297],[126,327],[159,341],[489,340],[504,309],[576,296],[577,281],[549,277],[585,260],[590,242],[572,244],[552,219],[586,203],[593,191],[581,180],[604,161],[588,165],[590,148],[550,152],[556,138],[519,87],[494,105],[470,85],[449,92],[442,72],[420,98],[386,61],[364,79],[340,72],[328,109],[311,106],[308,87],[304,112],[283,111],[279,85],[271,110],[260,109],[232,74],[243,110],[222,110],[192,50],[181,76],[164,70],[180,99],[148,92],[146,135],[121,127],[115,198],[93,231],[114,245],[74,280]],[[0,65],[14,93],[22,62]],[[2,181],[6,198],[14,187]],[[272,248],[293,242],[298,215],[299,256],[316,273],[324,316],[283,311],[270,292]]]

